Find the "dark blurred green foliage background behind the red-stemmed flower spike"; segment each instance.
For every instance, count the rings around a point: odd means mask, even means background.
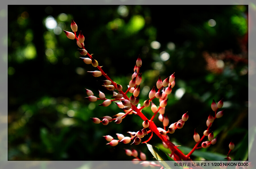
[[[71,19],[82,30],[85,48],[124,90],[141,55],[141,104],[160,75],[164,80],[176,72],[166,113],[174,123],[189,112],[184,127],[170,135],[171,141],[184,146],[182,151],[195,145],[195,128],[200,135],[207,128],[212,99],[224,98],[224,116],[212,125],[217,143],[199,150],[192,159],[201,160],[207,152],[226,155],[231,140],[238,146],[231,152],[232,158],[239,159],[236,152],[248,147],[241,144],[248,140],[248,6],[8,8],[9,160],[132,159],[123,150],[130,145],[106,146],[102,136],[129,136],[127,131],[141,129],[142,120],[129,115],[118,125],[92,123],[90,117],[122,111],[115,104],[105,108],[98,106],[100,101],[84,99],[84,88],[95,95],[100,90],[108,98],[112,93],[101,86],[103,77],[86,73],[96,68],[78,59],[76,42],[63,33],[72,31]],[[178,91],[182,91],[181,97]],[[158,105],[158,100],[153,101]],[[143,112],[148,118],[152,116],[150,108]],[[162,126],[157,118],[155,123]],[[157,137],[149,142],[154,146],[159,143]],[[153,160],[145,144],[132,147]]]

